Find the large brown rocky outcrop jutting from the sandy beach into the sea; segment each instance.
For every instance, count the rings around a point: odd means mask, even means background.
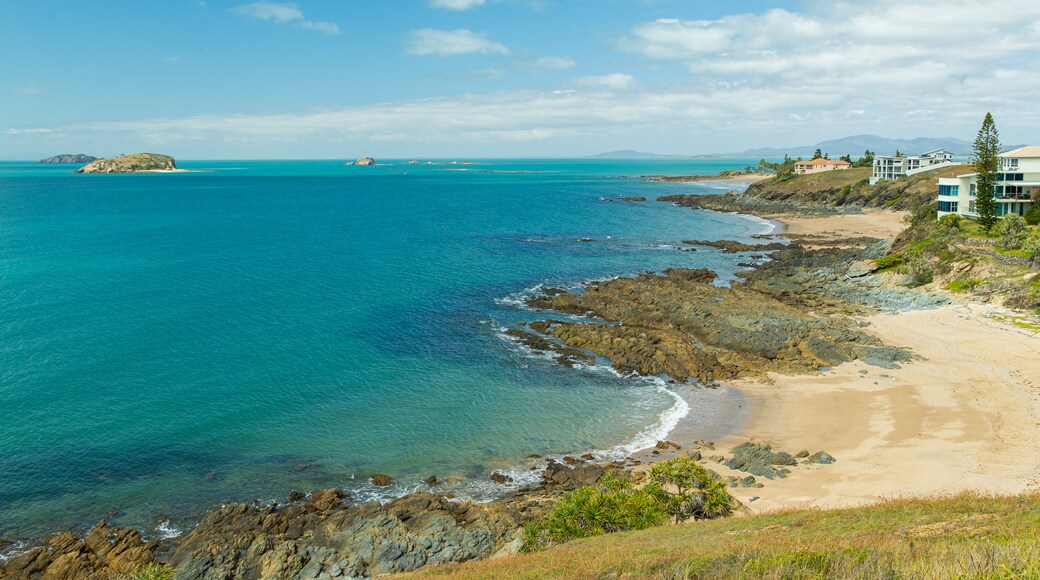
[[[528,304],[607,323],[546,320],[528,327],[544,337],[540,349],[557,344],[572,349],[572,358],[573,349],[588,351],[620,372],[679,381],[814,373],[857,359],[893,366],[910,359],[844,316],[869,307],[834,295],[853,284],[844,276],[849,264],[880,248],[782,247],[728,288],[713,284],[710,270],[675,268],[592,283],[581,292],[550,289]]]

